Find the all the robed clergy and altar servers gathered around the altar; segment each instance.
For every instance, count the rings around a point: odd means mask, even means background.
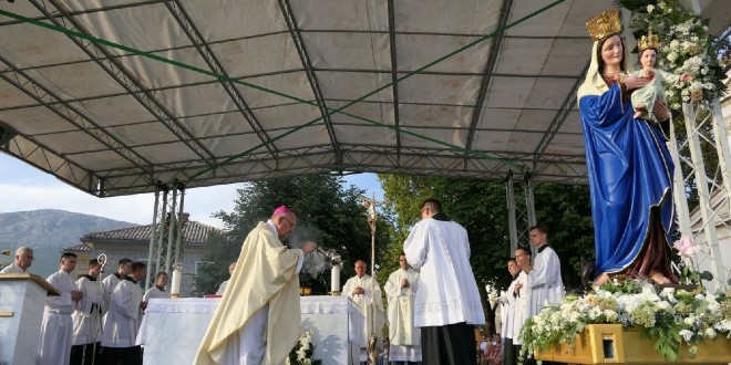
[[[300,334],[299,273],[306,258],[318,249],[311,241],[301,249],[285,246],[282,241],[296,227],[296,212],[281,206],[249,232],[238,260],[229,267],[230,279],[220,285],[223,296],[193,364],[289,362]],[[537,252],[534,261],[531,250],[523,247],[508,261],[517,278],[503,300],[502,335],[509,348],[501,346],[500,358],[497,347],[492,348],[491,364],[518,363],[517,334],[523,322],[563,299],[559,259],[547,244],[546,229],[533,228],[531,242]],[[21,247],[3,273],[29,272],[32,261],[32,249]],[[168,275],[157,272],[154,285],[143,293],[144,263],[121,259],[116,272],[102,279],[104,263],[91,260],[89,273],[74,281],[70,273],[76,255],[61,255],[59,271],[47,278],[60,295],[45,300],[37,364],[145,362],[141,324],[151,302],[169,298]],[[339,293],[362,313],[353,362],[473,364],[487,355],[475,335],[485,315],[470,264],[467,233],[450,220],[439,200],[421,205],[421,221],[403,243],[399,269],[390,273],[383,290],[367,270],[366,261],[356,261],[356,275]],[[384,338],[384,346],[378,338]]]

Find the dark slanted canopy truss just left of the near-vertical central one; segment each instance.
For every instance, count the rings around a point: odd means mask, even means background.
[[[310,82],[312,94],[315,95],[317,106],[320,109],[320,114],[322,115],[325,127],[327,128],[328,136],[330,137],[330,144],[332,145],[332,150],[334,152],[334,155],[338,156],[338,158],[341,158],[342,150],[340,148],[340,144],[338,143],[338,137],[336,136],[334,128],[332,127],[332,119],[330,118],[330,112],[328,111],[329,108],[325,103],[325,97],[322,96],[322,90],[320,88],[320,84],[318,83],[317,76],[315,75],[315,67],[312,67],[312,62],[310,61],[310,56],[307,53],[307,48],[305,46],[305,40],[302,39],[302,33],[299,27],[297,25],[297,19],[295,19],[295,13],[292,12],[292,8],[289,4],[289,0],[279,0],[279,8],[281,9],[281,13],[285,15],[285,20],[287,21],[287,28],[289,28],[289,34],[291,35],[292,41],[295,42],[295,46],[297,48],[297,53],[299,54],[299,59],[302,62],[302,67],[305,67],[307,80]]]

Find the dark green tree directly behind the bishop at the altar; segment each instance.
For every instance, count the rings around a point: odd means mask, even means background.
[[[196,275],[196,293],[215,292],[217,283],[228,278],[228,263],[235,261],[240,244],[258,221],[269,218],[271,211],[281,205],[297,212],[297,229],[289,238],[289,244],[299,247],[313,240],[319,247],[334,249],[344,260],[341,275],[354,274],[353,262],[362,259],[370,264],[371,230],[367,221],[366,208],[359,196],[362,190],[351,186],[343,189],[342,179],[329,175],[307,175],[254,181],[237,190],[234,211],[218,211],[214,216],[222,219],[227,229],[224,236],[212,236],[208,241],[207,264],[202,265]],[[391,218],[379,216],[377,242],[390,242]],[[377,257],[383,249],[377,251]],[[329,273],[312,277],[302,273],[302,285],[311,286],[313,293],[325,294],[329,290]]]

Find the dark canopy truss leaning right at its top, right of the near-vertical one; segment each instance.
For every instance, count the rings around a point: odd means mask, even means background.
[[[482,107],[485,104],[485,98],[487,97],[487,90],[490,90],[490,84],[493,81],[493,72],[497,65],[497,56],[500,56],[501,48],[503,46],[503,38],[505,31],[507,30],[507,21],[511,19],[511,11],[513,10],[513,0],[504,0],[503,4],[500,8],[500,18],[497,20],[497,28],[495,29],[495,36],[490,41],[490,54],[487,55],[487,63],[482,76],[482,83],[480,84],[480,92],[477,93],[477,101],[475,102],[475,108],[472,113],[472,121],[470,122],[470,134],[467,135],[467,143],[465,148],[467,150],[472,149],[472,144],[475,139],[475,134],[477,129],[477,123],[480,123],[480,115],[482,115]]]

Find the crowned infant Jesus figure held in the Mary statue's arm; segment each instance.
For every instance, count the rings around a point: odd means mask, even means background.
[[[632,93],[632,108],[635,109],[635,118],[645,118],[650,122],[658,122],[652,114],[655,102],[666,102],[663,82],[672,82],[678,77],[680,82],[690,82],[693,80],[689,73],[683,73],[680,76],[675,74],[656,70],[655,62],[657,60],[657,49],[660,46],[658,36],[652,34],[652,30],[648,30],[647,35],[642,35],[637,43],[639,50],[640,64],[642,70],[636,73],[639,77],[648,79],[649,82],[636,90]]]

